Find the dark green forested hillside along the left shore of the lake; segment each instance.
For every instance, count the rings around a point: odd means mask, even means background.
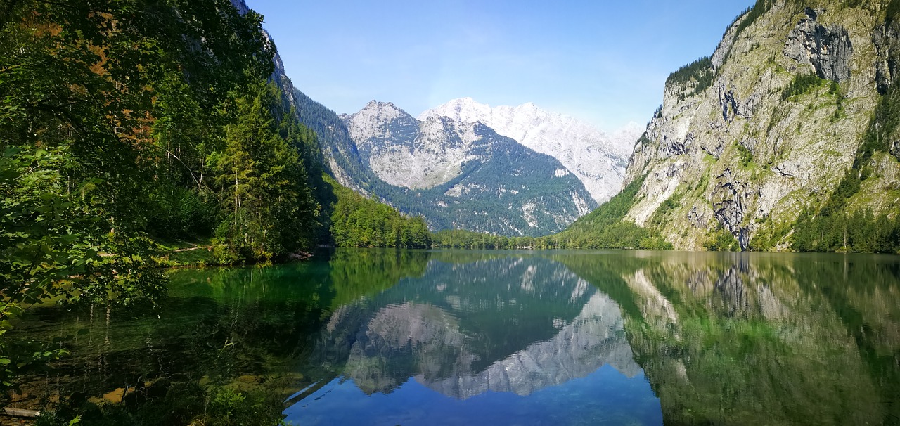
[[[0,337],[51,299],[157,300],[160,241],[209,241],[221,264],[428,246],[420,219],[323,178],[261,22],[228,0],[0,7]],[[0,387],[58,353],[0,340]]]

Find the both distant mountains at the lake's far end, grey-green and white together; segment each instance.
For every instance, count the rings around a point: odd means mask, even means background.
[[[323,145],[343,185],[422,214],[436,230],[513,236],[563,231],[608,200],[638,132],[608,136],[534,104],[491,108],[471,98],[419,119],[376,101],[339,118],[344,129],[333,117],[304,123],[338,136]]]

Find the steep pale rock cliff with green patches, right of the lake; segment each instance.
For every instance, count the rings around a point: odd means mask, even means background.
[[[710,59],[673,74],[629,161],[625,184],[646,178],[627,218],[676,249],[722,232],[742,249],[788,249],[792,224],[851,169],[897,79],[889,9],[900,5],[856,3],[761,0]],[[884,151],[864,160],[869,178],[848,204],[896,214],[900,163]]]

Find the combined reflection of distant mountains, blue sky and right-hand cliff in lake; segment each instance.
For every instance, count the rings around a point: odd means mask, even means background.
[[[287,412],[358,406],[386,424],[427,403],[463,423],[488,415],[467,400],[502,393],[522,398],[502,399],[501,423],[897,423],[898,276],[889,256],[437,252],[332,313],[314,359],[338,378]],[[616,388],[575,390],[595,380]],[[554,415],[527,410],[550,401]]]

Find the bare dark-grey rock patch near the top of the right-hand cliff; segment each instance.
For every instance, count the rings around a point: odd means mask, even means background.
[[[817,18],[824,12],[806,8],[806,18],[788,34],[784,54],[801,64],[811,64],[819,77],[847,81],[853,56],[850,35],[840,25],[826,27],[817,23]]]

